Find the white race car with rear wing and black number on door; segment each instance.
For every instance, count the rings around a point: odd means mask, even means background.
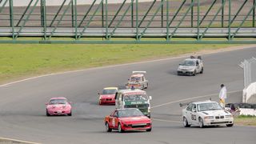
[[[233,115],[229,111],[223,110],[218,102],[190,102],[182,110],[183,126],[220,126],[228,127],[234,125]]]

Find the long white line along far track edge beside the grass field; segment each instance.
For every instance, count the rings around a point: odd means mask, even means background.
[[[254,48],[256,45],[249,45],[249,46],[230,46],[230,48],[225,48],[225,49],[221,49],[221,50],[214,50],[214,51],[210,51],[210,52],[199,52],[197,53],[198,55],[202,55],[202,54],[217,54],[217,53],[222,53],[222,52],[228,52],[228,51],[234,51],[234,50],[242,50],[242,49],[250,49],[250,48]],[[194,53],[193,53],[194,54]],[[129,66],[129,65],[134,65],[134,64],[141,64],[141,63],[147,63],[147,62],[161,62],[161,61],[168,61],[168,60],[172,60],[172,59],[178,59],[178,58],[186,58],[188,56],[190,56],[190,54],[182,54],[182,56],[178,56],[178,57],[172,57],[172,58],[162,58],[162,59],[156,59],[156,60],[151,60],[151,61],[144,61],[144,62],[132,62],[132,63],[125,63],[125,64],[119,64],[119,65],[112,65],[112,66],[102,66],[102,67],[94,67],[94,68],[89,68],[89,69],[85,69],[85,70],[71,70],[71,71],[66,71],[66,72],[60,72],[60,73],[54,73],[54,74],[44,74],[44,75],[40,75],[40,76],[36,76],[36,77],[32,77],[32,78],[26,78],[26,79],[22,79],[19,81],[15,81],[15,82],[9,82],[3,85],[0,85],[0,87],[2,86],[9,86],[11,84],[15,84],[18,82],[25,82],[31,79],[35,79],[35,78],[42,78],[42,77],[47,77],[47,76],[51,76],[51,75],[57,75],[57,74],[69,74],[69,73],[76,73],[76,72],[82,72],[82,71],[87,71],[87,70],[101,70],[101,69],[105,69],[105,68],[111,68],[111,67],[116,67],[116,66]]]

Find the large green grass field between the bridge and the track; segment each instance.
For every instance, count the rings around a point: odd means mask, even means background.
[[[237,45],[0,44],[0,83],[40,74],[167,58]]]

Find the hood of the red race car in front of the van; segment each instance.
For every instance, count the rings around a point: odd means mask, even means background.
[[[147,118],[146,116],[119,118],[119,120],[126,124],[151,123],[150,118]]]

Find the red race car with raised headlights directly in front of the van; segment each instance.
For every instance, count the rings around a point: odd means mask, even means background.
[[[150,118],[144,116],[136,108],[116,109],[109,116],[105,117],[106,131],[118,130],[120,133],[130,130],[152,130]]]

